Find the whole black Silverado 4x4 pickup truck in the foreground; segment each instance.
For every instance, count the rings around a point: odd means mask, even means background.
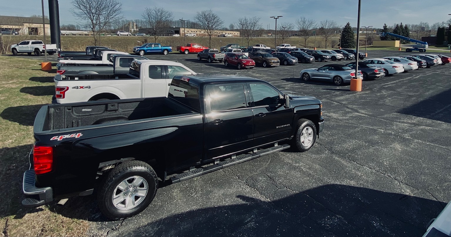
[[[143,211],[168,183],[281,151],[322,132],[322,103],[244,76],[175,76],[168,97],[43,106],[34,121],[22,204],[97,190],[101,212]]]

